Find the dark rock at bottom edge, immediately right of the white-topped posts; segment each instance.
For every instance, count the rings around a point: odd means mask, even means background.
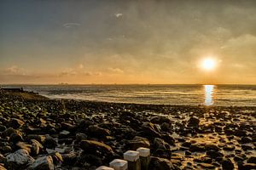
[[[172,162],[160,157],[151,156],[148,169],[150,170],[174,170]]]

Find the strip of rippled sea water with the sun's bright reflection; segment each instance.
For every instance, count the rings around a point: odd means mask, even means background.
[[[256,85],[22,85],[51,99],[164,105],[256,106]]]

